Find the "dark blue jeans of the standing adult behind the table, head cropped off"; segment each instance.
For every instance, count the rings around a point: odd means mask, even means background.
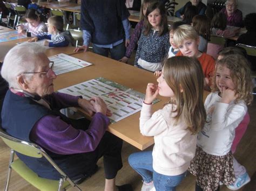
[[[111,58],[114,60],[120,60],[125,56],[125,41],[117,46],[114,46],[113,48],[101,48],[94,44],[92,44],[93,52],[102,56],[109,56],[109,52],[111,55]]]

